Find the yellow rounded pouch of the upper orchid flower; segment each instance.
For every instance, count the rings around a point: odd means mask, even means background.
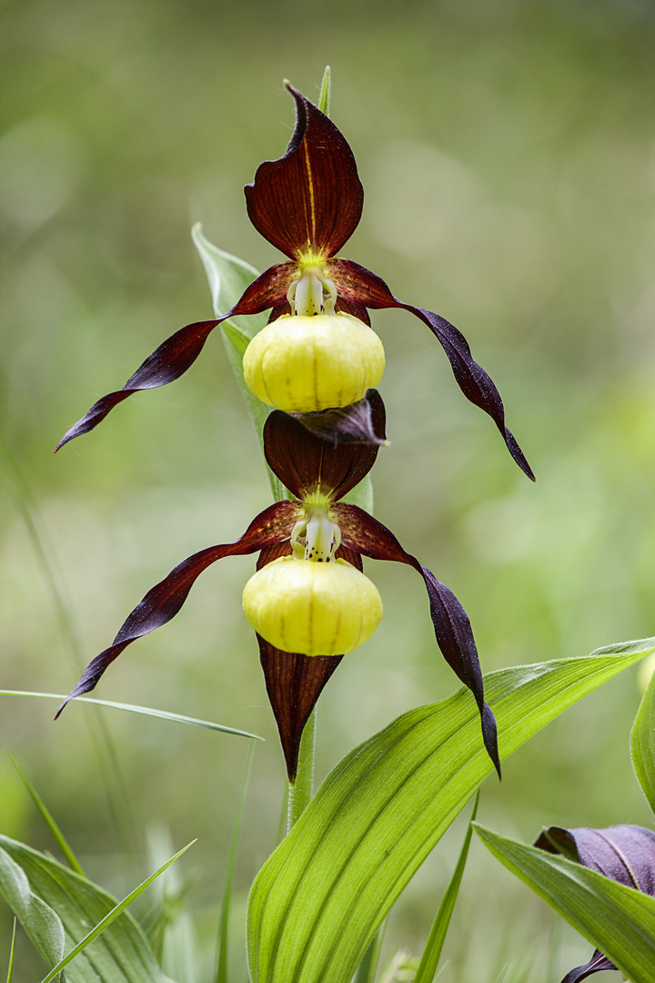
[[[350,406],[384,372],[375,331],[348,314],[283,315],[246,348],[246,385],[269,406],[312,413]]]

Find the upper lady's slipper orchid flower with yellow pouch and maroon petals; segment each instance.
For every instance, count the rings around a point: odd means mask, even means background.
[[[188,324],[168,338],[122,389],[99,399],[58,448],[93,430],[134,392],[182,376],[223,320],[268,310],[269,324],[246,352],[246,379],[255,394],[289,412],[348,405],[375,386],[384,370],[382,345],[369,330],[367,311],[398,308],[420,318],[436,335],[466,398],[489,414],[519,467],[534,480],[505,426],[500,394],[473,361],[464,335],[440,315],[395,298],[384,280],[364,266],[337,258],[362,210],[355,157],[334,123],[289,83],[286,86],[296,100],[291,143],[279,160],[257,168],[245,191],[250,221],[290,261],[276,263],[258,276],[221,318]],[[298,339],[289,343],[299,332],[300,362],[294,361]],[[351,376],[345,386],[344,361],[350,364]]]

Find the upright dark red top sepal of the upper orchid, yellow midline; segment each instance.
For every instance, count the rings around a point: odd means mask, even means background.
[[[296,129],[279,160],[260,164],[246,185],[257,232],[292,260],[327,259],[353,235],[363,203],[355,157],[343,134],[308,99],[296,99]]]

